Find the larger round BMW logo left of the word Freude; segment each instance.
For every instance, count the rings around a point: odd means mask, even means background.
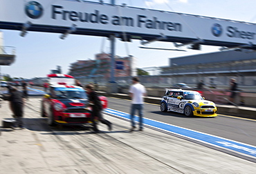
[[[38,19],[39,17],[42,17],[44,9],[40,3],[36,1],[30,1],[26,4],[25,12],[28,17],[32,19]]]

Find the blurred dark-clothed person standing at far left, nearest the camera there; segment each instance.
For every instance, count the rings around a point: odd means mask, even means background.
[[[17,88],[10,88],[10,110],[12,110],[13,117],[15,117],[16,123],[14,127],[24,128],[23,113],[24,113],[24,94]]]

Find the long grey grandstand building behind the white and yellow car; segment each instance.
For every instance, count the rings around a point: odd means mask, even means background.
[[[212,87],[228,85],[235,77],[241,86],[256,86],[256,52],[237,49],[201,55],[170,58],[169,66],[161,67],[161,76],[172,82],[196,84],[203,80]]]

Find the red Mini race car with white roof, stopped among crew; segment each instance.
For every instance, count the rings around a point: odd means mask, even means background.
[[[72,85],[70,75],[53,74],[50,77],[49,93],[42,99],[42,117],[48,117],[48,125],[91,124],[91,108],[86,91]],[[100,96],[103,108],[107,108],[107,97]]]

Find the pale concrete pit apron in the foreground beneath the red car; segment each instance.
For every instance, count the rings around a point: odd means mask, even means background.
[[[86,127],[50,128],[40,117],[39,98],[25,107],[25,129],[1,128],[0,173],[255,173],[256,164],[146,126],[129,133],[125,118],[92,134]],[[10,118],[1,101],[1,119]],[[122,113],[124,114],[124,113]],[[112,115],[112,116],[110,116]],[[116,116],[113,116],[116,115]]]

